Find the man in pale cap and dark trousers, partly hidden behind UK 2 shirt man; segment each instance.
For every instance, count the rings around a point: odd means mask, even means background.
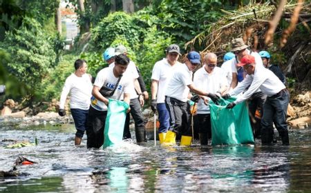
[[[124,54],[127,55],[127,50],[124,47],[124,45],[118,45],[117,48],[115,48],[115,55]],[[111,67],[113,67],[113,63],[111,64]],[[138,81],[139,73],[138,69],[136,68],[135,63],[130,60],[129,66],[124,72],[125,74],[129,74],[129,76],[132,77],[134,87],[131,90],[131,115],[135,122],[135,136],[137,143],[142,143],[147,141],[146,139],[146,129],[144,128],[144,116],[142,115],[142,106],[144,105],[144,96],[142,93],[142,90],[140,88],[140,83]],[[124,134],[123,139],[130,139],[131,138],[131,132],[129,130],[129,123],[130,123],[130,115],[126,115],[126,121],[124,124]]]

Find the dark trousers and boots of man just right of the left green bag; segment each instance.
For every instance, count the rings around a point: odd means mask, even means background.
[[[138,143],[146,141],[146,130],[144,128],[144,116],[142,116],[142,108],[138,99],[131,99],[130,101],[131,115],[135,122],[135,136]],[[131,132],[129,130],[130,115],[126,114],[124,124],[123,139],[130,139]]]

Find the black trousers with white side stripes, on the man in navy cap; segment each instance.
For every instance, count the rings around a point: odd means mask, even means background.
[[[187,102],[165,96],[165,105],[169,110],[169,130],[177,134],[192,136]]]

